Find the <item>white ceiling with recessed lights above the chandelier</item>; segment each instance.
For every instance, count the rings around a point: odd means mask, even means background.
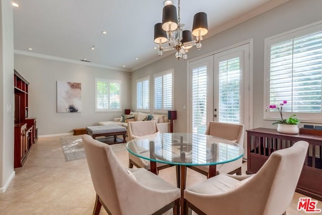
[[[240,17],[247,19],[250,12],[256,15],[255,9],[258,13],[286,1],[181,0],[181,23],[185,24],[184,30],[191,30],[194,14],[205,12],[209,37],[226,23]],[[153,27],[162,22],[164,0],[14,2],[20,6],[13,8],[15,53],[76,61],[86,58],[90,64],[125,71],[159,59],[157,50],[153,49]],[[174,4],[177,7],[178,0]],[[104,30],[106,35],[101,33]]]

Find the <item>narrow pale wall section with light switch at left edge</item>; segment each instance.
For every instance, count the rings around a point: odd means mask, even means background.
[[[14,172],[14,41],[12,1],[0,1],[0,192]],[[8,107],[11,110],[8,110]]]

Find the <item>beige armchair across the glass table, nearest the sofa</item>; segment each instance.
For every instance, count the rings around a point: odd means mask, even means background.
[[[159,133],[158,126],[156,121],[137,121],[137,122],[128,122],[128,132],[130,139],[139,139],[142,136],[148,136],[148,135],[156,135]],[[135,147],[135,145],[128,145],[131,151],[139,154],[138,149]],[[149,153],[149,152],[145,152]],[[150,170],[150,162],[148,160],[144,160],[142,158],[139,158],[131,153],[129,153],[129,168],[133,168],[133,165],[137,168],[145,168],[147,170]],[[158,170],[162,170],[168,167],[171,167],[170,164],[165,163],[156,163],[156,168]]]

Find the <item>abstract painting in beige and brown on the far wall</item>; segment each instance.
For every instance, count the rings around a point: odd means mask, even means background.
[[[82,112],[82,83],[57,81],[57,113]]]

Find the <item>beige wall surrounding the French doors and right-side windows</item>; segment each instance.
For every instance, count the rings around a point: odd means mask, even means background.
[[[313,22],[322,20],[322,1],[320,0],[291,0],[277,8],[254,17],[244,23],[225,30],[215,36],[202,41],[202,48],[198,51],[195,47],[188,53],[188,59],[194,59],[201,55],[220,50],[227,46],[239,43],[241,41],[254,39],[253,48],[253,96],[254,113],[253,127],[271,127],[272,121],[264,121],[264,40],[267,37],[277,35]],[[157,55],[157,52],[155,52]],[[132,72],[132,94],[136,97],[136,80],[157,72],[162,72],[170,68],[175,69],[175,104],[174,109],[178,112],[177,120],[174,121],[175,132],[186,132],[187,129],[187,62],[178,61],[173,53],[172,55],[160,59],[154,63],[144,66]],[[151,88],[152,89],[152,88]],[[135,99],[132,99],[132,108],[136,105]]]

